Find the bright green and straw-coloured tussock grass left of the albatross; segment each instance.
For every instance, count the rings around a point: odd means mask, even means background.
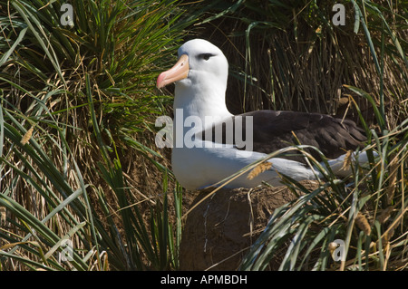
[[[70,27],[62,4],[0,1],[0,267],[177,268],[151,134],[170,102],[155,78],[189,20],[171,1],[83,0]],[[143,166],[160,179],[131,175]]]

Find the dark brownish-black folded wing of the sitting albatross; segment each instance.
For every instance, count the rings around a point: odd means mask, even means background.
[[[248,117],[252,118],[252,130],[247,130]],[[366,140],[364,130],[361,130],[355,125],[353,120],[336,119],[330,115],[319,113],[307,113],[296,111],[252,111],[244,114],[239,114],[232,117],[233,126],[233,141],[236,141],[237,123],[241,123],[242,136],[238,136],[241,140],[247,140],[248,133],[252,132],[253,147],[252,150],[271,153],[277,149],[287,148],[288,146],[297,144],[311,145],[320,149],[328,159],[335,159],[340,155],[345,154],[346,150],[356,149],[361,147]],[[222,143],[231,143],[226,137],[226,128],[229,128],[226,123],[230,120],[225,120],[222,123],[214,125],[210,130],[204,131],[204,138],[210,135],[212,140],[216,139],[216,131],[220,131],[222,127],[223,137]],[[249,123],[248,123],[249,124]],[[248,126],[250,129],[250,126]],[[295,136],[296,135],[296,139]],[[248,149],[238,146],[238,149]],[[316,159],[321,160],[315,149],[306,149]],[[286,156],[287,159],[295,159],[304,162],[305,158],[299,154],[291,152]]]

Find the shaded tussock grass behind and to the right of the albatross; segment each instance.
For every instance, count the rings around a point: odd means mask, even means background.
[[[403,270],[408,264],[407,7],[349,1],[346,25],[335,26],[334,4],[217,1],[202,21],[215,28],[209,39],[227,51],[235,76],[228,87],[231,111],[336,114],[357,120],[368,136],[368,167],[345,163],[354,168],[350,178],[336,178],[304,152],[325,176],[321,187],[308,191],[282,176],[304,195],[274,213],[242,270],[267,269],[272,259],[281,270]],[[288,149],[304,147],[268,158]],[[256,171],[262,161],[223,182]],[[345,244],[343,262],[331,257],[336,239]]]

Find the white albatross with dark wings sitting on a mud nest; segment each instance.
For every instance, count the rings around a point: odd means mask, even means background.
[[[182,44],[179,60],[157,79],[160,89],[175,83],[171,167],[180,184],[189,190],[206,188],[238,170],[267,158],[269,153],[294,144],[313,146],[327,159],[336,176],[345,177],[347,151],[364,147],[364,131],[352,120],[301,111],[252,111],[231,114],[226,105],[228,61],[212,43],[194,39]],[[180,123],[181,125],[178,125]],[[307,150],[316,159],[316,149]],[[285,175],[298,181],[322,178],[302,153],[287,153],[267,159],[268,169],[255,178],[248,173],[228,183],[228,188],[254,188],[267,182],[281,185]],[[319,161],[322,161],[319,159]],[[325,164],[322,162],[325,168]]]

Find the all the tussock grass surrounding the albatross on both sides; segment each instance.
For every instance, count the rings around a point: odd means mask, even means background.
[[[2,270],[179,268],[183,190],[152,136],[171,98],[154,85],[197,36],[228,55],[232,112],[337,114],[369,137],[370,163],[345,164],[350,178],[319,167],[325,179],[308,191],[282,176],[304,195],[276,210],[241,269],[271,258],[282,270],[406,269],[403,2],[347,1],[346,25],[334,26],[334,1],[81,0],[73,27],[62,3],[0,0]],[[306,154],[269,157],[289,149]],[[330,256],[336,239],[345,262]]]

